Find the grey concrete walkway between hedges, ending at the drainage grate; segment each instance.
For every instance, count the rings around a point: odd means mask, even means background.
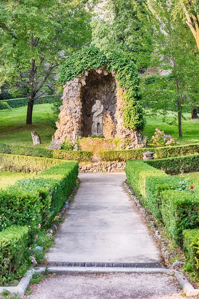
[[[48,261],[160,261],[147,228],[123,188],[124,173],[80,174],[80,188],[56,234]]]

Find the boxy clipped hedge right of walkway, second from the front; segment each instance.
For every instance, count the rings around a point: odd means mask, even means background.
[[[199,227],[199,194],[167,190],[161,193],[162,219],[173,240],[182,245],[183,231]]]

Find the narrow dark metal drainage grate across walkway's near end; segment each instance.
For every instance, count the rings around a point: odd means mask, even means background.
[[[77,262],[46,262],[50,267],[101,267],[101,268],[163,268],[160,263],[77,263]]]

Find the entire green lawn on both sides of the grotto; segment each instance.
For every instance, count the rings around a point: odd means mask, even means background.
[[[35,105],[33,108],[33,125],[25,125],[27,107],[12,110],[0,110],[0,143],[33,146],[31,131],[41,136],[39,147],[48,147],[56,129],[51,125],[53,118],[52,104]],[[146,117],[146,127],[143,134],[150,140],[155,129],[163,130],[166,134],[177,139],[181,145],[199,143],[199,120],[191,121],[191,114],[185,114],[183,120],[183,139],[178,136],[178,126],[162,122],[162,117]],[[168,121],[174,120],[173,114],[168,114]],[[150,146],[150,142],[149,142]],[[38,146],[36,146],[38,147]]]

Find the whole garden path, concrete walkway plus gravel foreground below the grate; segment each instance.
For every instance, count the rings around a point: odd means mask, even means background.
[[[49,261],[151,262],[159,252],[123,188],[125,174],[80,174]],[[85,274],[45,279],[28,299],[183,299],[166,274]],[[23,297],[25,299],[26,296]]]

